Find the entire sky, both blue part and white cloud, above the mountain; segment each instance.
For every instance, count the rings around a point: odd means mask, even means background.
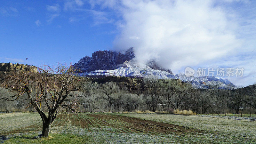
[[[133,46],[174,73],[244,68],[256,82],[256,2],[250,0],[0,0],[1,62],[40,66]],[[28,58],[28,60],[26,60]]]

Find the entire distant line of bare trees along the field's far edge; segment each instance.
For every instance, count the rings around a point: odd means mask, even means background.
[[[209,89],[195,89],[190,84],[177,80],[159,80],[144,78],[143,91],[133,92],[125,86],[115,82],[98,83],[92,81],[80,82],[80,88],[72,91],[76,109],[82,112],[112,111],[133,112],[135,110],[155,112],[174,109],[192,110],[198,114],[212,113],[255,113],[256,114],[256,85],[236,90],[220,89],[220,84],[208,85]],[[6,113],[11,111],[36,111],[29,105],[26,93],[19,99],[8,101],[8,97],[15,95],[8,89],[0,88],[0,110]],[[51,98],[51,92],[48,96]],[[47,112],[47,106],[42,101],[41,106]],[[60,111],[71,111],[68,107]]]

